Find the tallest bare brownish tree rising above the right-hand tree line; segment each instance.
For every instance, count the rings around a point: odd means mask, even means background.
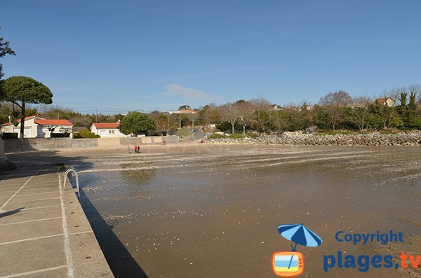
[[[326,107],[330,125],[335,131],[335,127],[343,120],[343,110],[352,103],[352,97],[347,92],[339,90],[338,92],[329,92],[328,95],[320,99],[319,103]]]

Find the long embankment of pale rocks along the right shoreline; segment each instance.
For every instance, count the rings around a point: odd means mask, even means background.
[[[262,135],[258,138],[205,139],[210,144],[279,144],[279,145],[324,145],[324,146],[417,146],[421,145],[421,132],[399,134],[281,134]]]

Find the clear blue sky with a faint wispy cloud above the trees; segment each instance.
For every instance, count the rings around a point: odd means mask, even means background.
[[[421,1],[4,1],[5,78],[76,111],[318,102],[421,83]]]

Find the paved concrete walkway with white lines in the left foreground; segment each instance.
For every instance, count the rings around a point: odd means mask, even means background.
[[[0,278],[113,277],[57,168],[0,176]]]

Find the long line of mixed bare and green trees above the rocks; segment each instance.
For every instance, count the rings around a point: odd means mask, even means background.
[[[182,114],[180,119],[155,111],[154,118],[159,130],[171,130],[182,126],[216,124],[222,131],[248,130],[257,132],[283,132],[305,130],[316,125],[321,130],[420,130],[421,86],[410,85],[385,92],[377,99],[351,97],[339,90],[329,92],[313,106],[306,102],[300,105],[278,106],[259,97],[239,100],[227,104],[208,104],[196,114]],[[393,105],[385,99],[390,97]]]

